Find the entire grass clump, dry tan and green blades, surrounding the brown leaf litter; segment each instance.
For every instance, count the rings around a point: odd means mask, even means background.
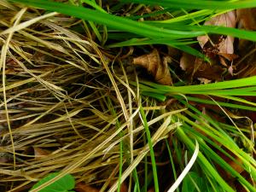
[[[253,123],[235,112],[255,111],[247,98],[256,78],[155,84],[125,53],[172,46],[208,61],[193,48],[196,37],[256,35],[202,22],[253,7],[253,0],[3,0],[0,189],[27,191],[60,172],[31,191],[68,173],[110,192],[122,183],[142,192],[186,192],[188,183],[195,191],[255,191]]]

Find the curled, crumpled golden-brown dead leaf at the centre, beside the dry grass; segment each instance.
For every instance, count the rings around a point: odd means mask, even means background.
[[[144,67],[154,76],[156,82],[160,84],[172,84],[171,73],[168,70],[167,61],[161,61],[159,52],[154,49],[147,55],[141,55],[133,59],[133,64]]]

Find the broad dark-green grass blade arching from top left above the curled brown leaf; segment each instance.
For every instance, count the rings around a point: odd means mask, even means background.
[[[40,9],[71,15],[83,20],[91,20],[98,24],[106,25],[124,32],[132,32],[148,38],[189,38],[204,35],[204,32],[183,32],[165,30],[163,28],[147,25],[143,22],[129,20],[123,17],[109,15],[98,10],[86,9],[66,3],[56,3],[45,0],[11,0],[12,2],[25,3]],[[85,14],[86,13],[86,14]]]

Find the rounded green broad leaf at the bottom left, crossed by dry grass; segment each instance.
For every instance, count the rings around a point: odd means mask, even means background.
[[[32,187],[32,189],[38,188],[42,184],[56,177],[58,174],[59,172],[50,173],[48,176],[42,178],[38,183],[36,183]],[[67,174],[64,177],[61,177],[59,180],[56,180],[55,183],[51,183],[44,189],[39,190],[39,192],[68,192],[69,190],[73,189],[74,186],[75,186],[74,177],[70,174]]]

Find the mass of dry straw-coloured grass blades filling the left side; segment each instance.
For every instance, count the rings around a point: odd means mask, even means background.
[[[127,146],[122,179],[129,177],[149,149],[138,139],[139,90],[129,87],[118,56],[110,59],[93,39],[74,32],[81,20],[5,1],[0,18],[0,189],[27,190],[55,171],[106,189],[118,177],[120,141]],[[161,119],[179,111],[154,119],[165,107],[144,102],[153,112],[148,125],[160,127],[155,144],[178,125],[166,131]]]

